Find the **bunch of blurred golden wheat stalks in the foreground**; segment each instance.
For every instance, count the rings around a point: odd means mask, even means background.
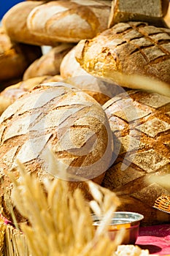
[[[8,254],[5,256],[117,255],[123,230],[114,241],[107,232],[107,225],[120,204],[115,193],[92,181],[84,181],[93,196],[88,202],[80,189],[70,192],[67,181],[45,178],[40,183],[20,162],[18,171],[18,180],[9,174],[13,181],[12,201],[29,225],[20,224],[22,233],[11,227],[7,229]],[[93,225],[92,211],[103,217],[97,228]]]

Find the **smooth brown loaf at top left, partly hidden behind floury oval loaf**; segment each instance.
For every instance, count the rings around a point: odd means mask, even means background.
[[[2,23],[9,37],[16,42],[31,45],[58,45],[58,42],[42,35],[31,34],[28,30],[27,18],[31,10],[43,4],[43,1],[21,1],[9,9],[2,18]]]

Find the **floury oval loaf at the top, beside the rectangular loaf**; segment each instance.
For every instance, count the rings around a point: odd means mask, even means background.
[[[107,29],[112,1],[50,1],[35,7],[27,18],[32,34],[59,42],[79,42]]]

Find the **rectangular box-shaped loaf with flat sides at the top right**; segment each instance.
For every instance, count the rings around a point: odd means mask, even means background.
[[[116,0],[112,1],[109,27],[125,21],[144,21],[153,26],[166,26],[164,17],[169,0]]]

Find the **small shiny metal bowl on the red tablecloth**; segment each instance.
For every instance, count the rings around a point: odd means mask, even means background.
[[[97,227],[101,224],[102,217],[97,217],[94,214],[92,214],[92,217],[94,226]],[[139,235],[139,225],[142,219],[144,219],[142,214],[130,211],[116,211],[108,227],[109,237],[111,240],[114,240],[118,231],[123,229],[124,236],[121,244],[135,244]]]

